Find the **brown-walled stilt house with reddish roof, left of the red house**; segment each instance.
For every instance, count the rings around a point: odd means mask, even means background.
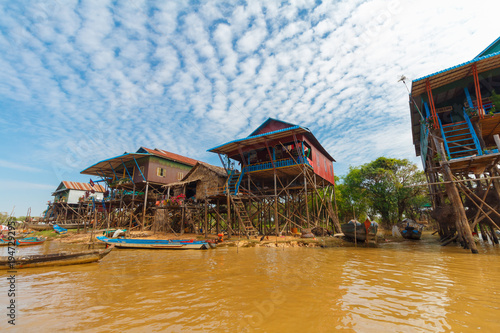
[[[154,220],[155,202],[165,195],[164,185],[182,180],[196,163],[166,150],[141,147],[135,153],[100,161],[81,173],[100,177],[110,189],[110,196],[102,203],[107,223],[144,229]]]

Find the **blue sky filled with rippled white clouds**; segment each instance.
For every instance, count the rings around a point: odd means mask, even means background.
[[[0,212],[37,216],[106,158],[207,149],[268,117],[309,128],[336,175],[420,166],[411,80],[499,36],[498,0],[1,1]]]

